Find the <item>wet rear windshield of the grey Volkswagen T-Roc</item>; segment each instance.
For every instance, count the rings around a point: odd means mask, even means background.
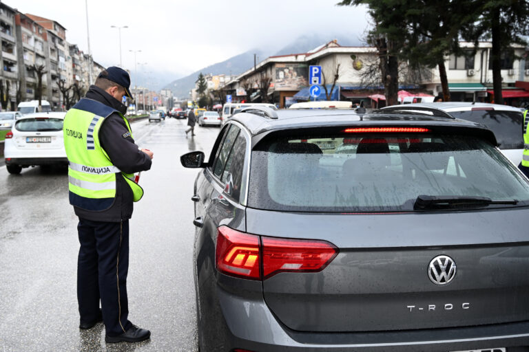
[[[252,152],[249,189],[248,205],[265,210],[406,211],[419,195],[529,201],[508,159],[459,135],[268,137]]]

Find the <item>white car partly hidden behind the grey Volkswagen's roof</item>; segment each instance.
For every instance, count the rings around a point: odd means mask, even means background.
[[[518,165],[523,155],[523,112],[516,107],[484,102],[431,102],[419,104],[393,105],[383,107],[383,111],[415,111],[417,113],[446,113],[484,124],[491,129],[498,140],[501,153]]]

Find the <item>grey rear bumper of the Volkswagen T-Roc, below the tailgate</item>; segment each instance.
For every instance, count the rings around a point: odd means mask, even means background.
[[[311,333],[288,329],[264,300],[248,300],[218,288],[227,325],[229,349],[249,351],[463,351],[529,346],[529,322],[480,327],[383,331],[374,333]]]

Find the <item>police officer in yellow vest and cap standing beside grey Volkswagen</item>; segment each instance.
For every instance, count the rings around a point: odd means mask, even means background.
[[[79,328],[105,322],[106,342],[138,342],[151,333],[127,319],[129,219],[143,196],[134,173],[149,170],[153,153],[132,139],[123,96],[129,74],[108,67],[64,118],[70,204],[79,217]],[[101,300],[101,309],[99,302]]]

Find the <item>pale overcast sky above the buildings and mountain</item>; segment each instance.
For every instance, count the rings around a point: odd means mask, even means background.
[[[103,66],[118,65],[119,36],[124,67],[164,72],[167,81],[253,48],[278,50],[302,35],[340,33],[360,39],[365,8],[335,6],[339,0],[87,0],[90,49]],[[66,39],[87,52],[85,0],[8,0],[20,12],[53,19]],[[142,66],[138,66],[140,71]]]

